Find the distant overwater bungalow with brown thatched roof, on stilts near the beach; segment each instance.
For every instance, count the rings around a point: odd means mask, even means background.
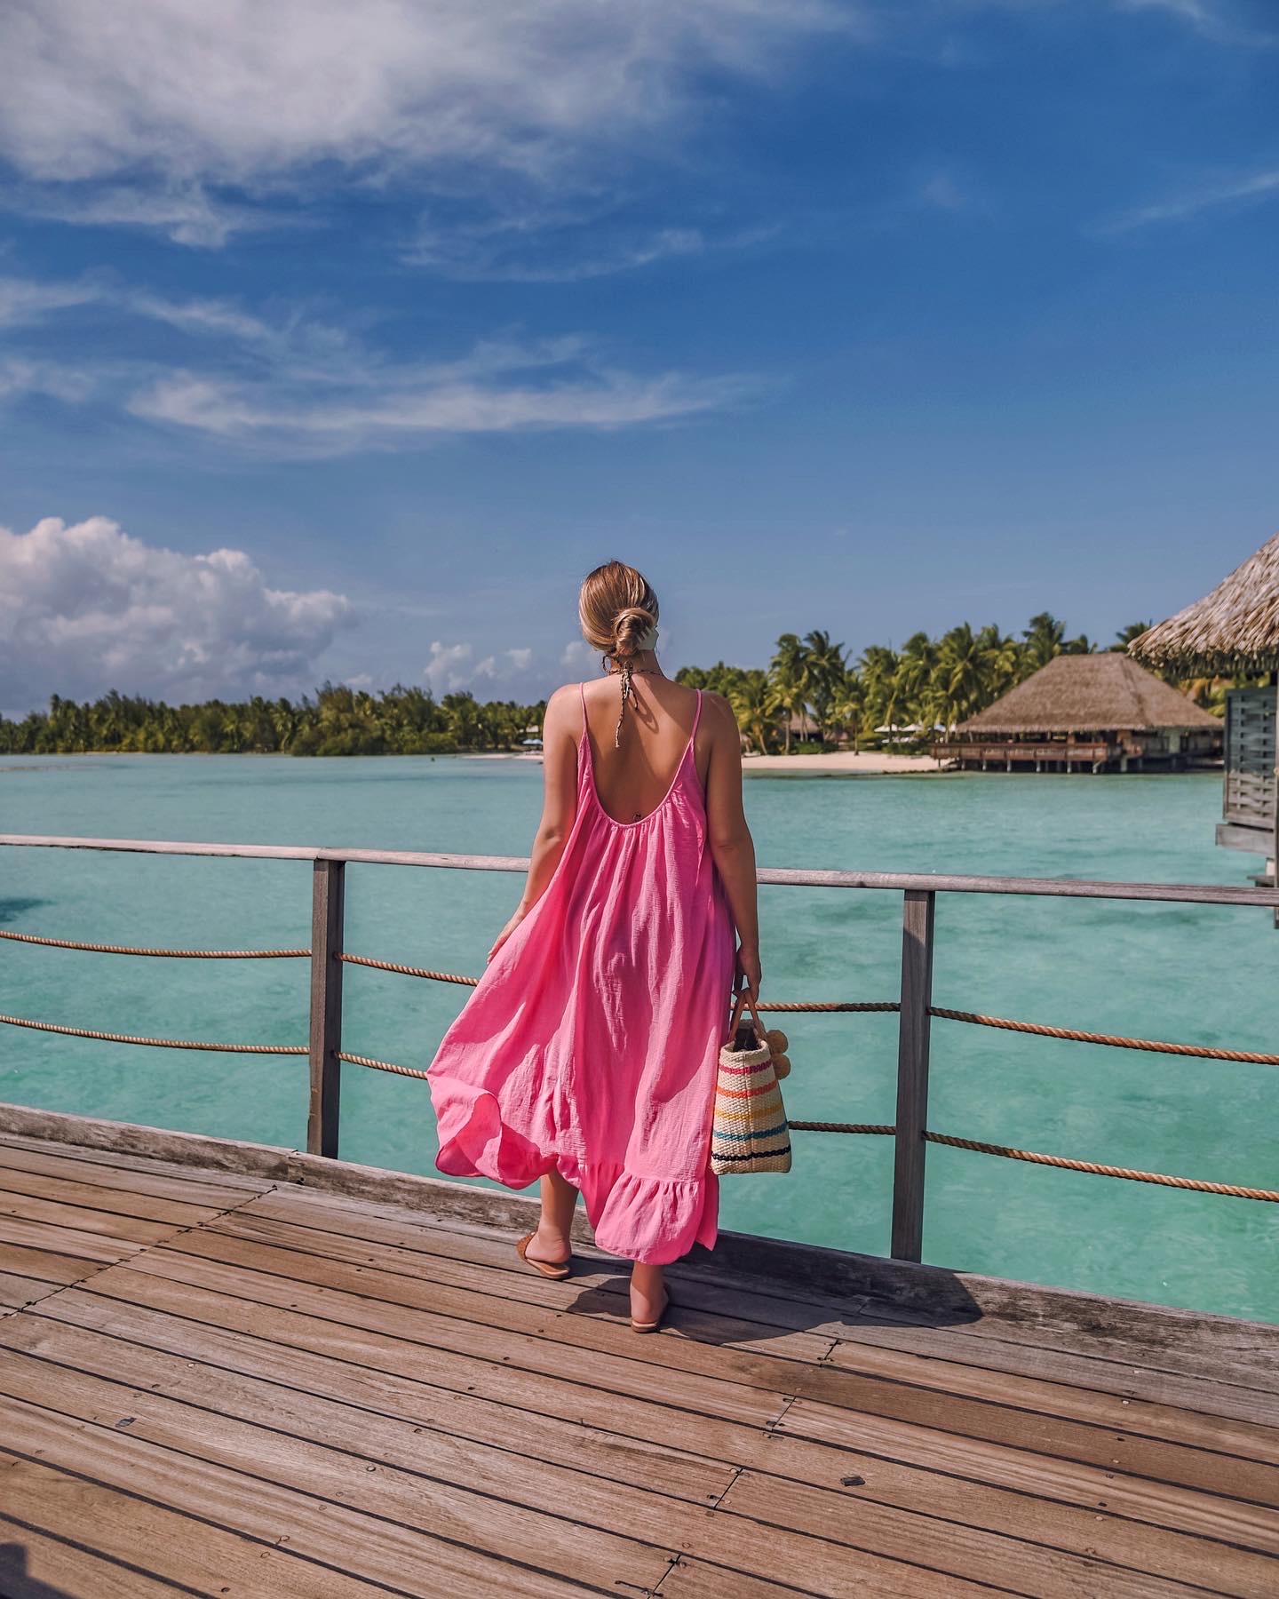
[[[1057,656],[951,739],[964,771],[1185,771],[1221,753],[1221,723],[1119,652]]]

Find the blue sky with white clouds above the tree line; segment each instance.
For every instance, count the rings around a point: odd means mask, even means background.
[[[1274,0],[18,0],[0,710],[536,699],[1276,531]]]

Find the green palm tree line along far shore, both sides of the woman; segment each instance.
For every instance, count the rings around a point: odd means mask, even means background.
[[[1134,622],[1110,649],[1126,649],[1150,624]],[[1103,646],[1042,611],[1020,635],[961,622],[940,638],[913,633],[900,649],[870,644],[852,659],[830,633],[783,633],[767,667],[681,667],[676,678],[723,694],[755,750],[790,753],[803,740],[860,742],[875,728],[953,728],[1047,665],[1054,656],[1094,654]],[[1178,684],[1201,705],[1221,708],[1226,683]],[[78,755],[93,750],[224,755],[448,755],[459,750],[518,750],[540,729],[545,700],[480,702],[468,692],[406,688],[371,694],[325,683],[313,696],[205,700],[168,705],[117,694],[93,702],[53,696],[46,712],[21,721],[0,718],[0,753]],[[892,742],[910,742],[894,734]]]

